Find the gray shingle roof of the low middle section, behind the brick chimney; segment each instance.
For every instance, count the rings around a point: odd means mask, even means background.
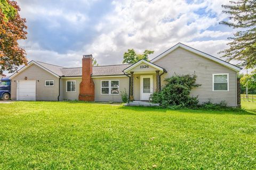
[[[66,68],[61,66],[56,66],[53,64],[48,64],[40,61],[36,61],[38,64],[44,68],[54,72],[59,76],[65,77],[77,77],[82,76],[82,67],[77,68]],[[123,70],[131,64],[117,64],[110,66],[93,66],[92,67],[92,76],[108,76],[108,75],[123,75]]]

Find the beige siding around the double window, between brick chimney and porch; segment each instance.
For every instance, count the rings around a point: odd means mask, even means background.
[[[96,102],[122,102],[120,94],[101,94],[101,80],[119,80],[119,92],[124,92],[129,94],[129,78],[128,77],[106,77],[106,78],[93,78],[95,96],[94,100]]]

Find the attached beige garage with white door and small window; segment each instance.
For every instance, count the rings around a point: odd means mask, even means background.
[[[40,64],[39,64],[40,63]],[[11,99],[30,101],[57,101],[63,99],[62,75],[59,67],[51,64],[31,61],[27,66],[15,72],[11,78]],[[59,75],[50,69],[55,68]],[[61,88],[61,91],[59,89]]]

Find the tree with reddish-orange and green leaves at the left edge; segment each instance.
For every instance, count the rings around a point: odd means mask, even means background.
[[[26,19],[20,18],[20,7],[15,1],[0,0],[0,72],[14,72],[27,64],[26,52],[18,40],[26,39]]]

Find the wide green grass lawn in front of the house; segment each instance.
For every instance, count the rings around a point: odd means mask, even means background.
[[[255,169],[256,103],[243,107],[0,103],[0,169]]]

